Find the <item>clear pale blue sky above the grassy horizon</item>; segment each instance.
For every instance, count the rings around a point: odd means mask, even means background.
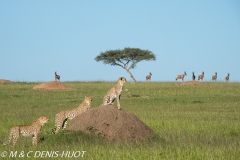
[[[240,81],[240,1],[0,1],[0,79],[131,80],[118,66],[96,62],[101,52],[133,47],[156,61],[131,70],[138,81],[185,81],[218,72]]]

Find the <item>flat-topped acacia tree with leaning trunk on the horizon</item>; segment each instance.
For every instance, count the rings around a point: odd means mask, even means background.
[[[124,48],[123,50],[109,50],[101,52],[95,60],[103,61],[104,64],[110,64],[112,66],[120,66],[126,70],[130,77],[136,82],[130,69],[134,69],[136,64],[140,61],[156,60],[156,56],[148,50],[141,50],[139,48]]]

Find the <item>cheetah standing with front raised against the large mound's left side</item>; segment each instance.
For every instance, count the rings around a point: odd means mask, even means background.
[[[73,119],[77,115],[87,111],[90,108],[90,104],[92,102],[92,97],[86,97],[84,101],[76,108],[61,111],[55,116],[55,128],[52,129],[52,133],[58,133],[60,128],[65,129],[67,127],[67,120]]]

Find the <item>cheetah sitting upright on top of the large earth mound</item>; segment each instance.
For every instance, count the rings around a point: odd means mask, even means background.
[[[113,104],[115,98],[117,99],[118,109],[120,107],[120,97],[123,89],[123,84],[127,82],[125,77],[120,77],[117,83],[107,92],[107,94],[103,97],[103,105]]]

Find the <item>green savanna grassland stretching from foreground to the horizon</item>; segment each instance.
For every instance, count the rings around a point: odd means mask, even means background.
[[[0,159],[14,159],[9,158],[11,152],[17,153],[15,159],[54,159],[54,155],[56,159],[57,153],[68,151],[78,159],[93,160],[240,159],[240,83],[125,83],[121,107],[155,131],[148,141],[115,144],[80,131],[50,134],[57,112],[78,106],[84,96],[93,97],[92,108],[100,106],[114,83],[63,82],[73,90],[61,91],[33,90],[39,83],[0,84],[1,142],[14,125],[29,124],[40,116],[50,120],[42,128],[38,146],[21,136],[15,148],[0,145]],[[49,158],[44,151],[56,154]],[[86,152],[79,156],[82,151]],[[71,154],[60,156],[75,159]]]

